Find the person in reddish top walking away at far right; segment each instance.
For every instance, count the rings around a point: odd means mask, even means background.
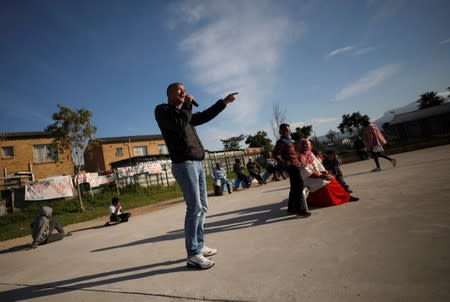
[[[373,160],[375,161],[376,165],[376,168],[373,169],[372,172],[381,171],[380,161],[378,160],[380,157],[389,160],[392,166],[395,167],[397,165],[397,161],[384,154],[383,145],[387,144],[387,141],[377,125],[369,122],[368,120],[363,121],[362,125],[364,127],[364,144],[372,154]]]

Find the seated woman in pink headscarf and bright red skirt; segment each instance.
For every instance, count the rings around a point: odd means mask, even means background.
[[[301,141],[298,156],[301,163],[301,175],[305,187],[309,189],[306,199],[309,206],[326,207],[359,200],[347,193],[327,172],[313,154],[312,144],[308,139]]]

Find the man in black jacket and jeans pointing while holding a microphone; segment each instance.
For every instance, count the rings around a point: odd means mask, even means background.
[[[227,104],[235,100],[236,94],[231,93],[208,109],[192,114],[192,105],[196,105],[196,102],[192,95],[185,94],[184,85],[176,82],[167,87],[167,104],[155,108],[155,118],[172,160],[172,174],[186,201],[184,235],[187,265],[199,269],[214,265],[214,261],[205,256],[213,256],[217,250],[204,244],[203,225],[208,210],[202,167],[205,150],[194,127],[216,117]]]

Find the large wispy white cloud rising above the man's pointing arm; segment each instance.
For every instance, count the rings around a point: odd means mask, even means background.
[[[283,53],[302,33],[302,24],[272,6],[271,1],[194,0],[173,7],[173,28],[188,31],[178,47],[187,57],[190,80],[217,98],[238,91],[222,115],[242,129],[261,126]]]

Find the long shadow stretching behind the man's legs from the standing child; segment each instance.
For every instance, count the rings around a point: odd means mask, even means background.
[[[207,220],[226,215],[238,215],[235,217],[223,219],[220,221],[213,221],[205,224],[205,229],[208,234],[225,232],[249,227],[255,227],[262,224],[276,223],[290,219],[298,219],[297,216],[287,216],[286,211],[282,208],[287,204],[287,200],[283,200],[280,203],[262,205],[257,207],[251,207],[247,209],[240,209],[236,211],[223,212],[207,216]],[[176,240],[184,238],[184,231],[182,229],[170,231],[167,234],[150,237],[142,240],[132,241],[129,243],[104,247],[91,252],[103,252],[112,249],[124,248],[135,246],[139,244],[155,243],[165,240]]]

